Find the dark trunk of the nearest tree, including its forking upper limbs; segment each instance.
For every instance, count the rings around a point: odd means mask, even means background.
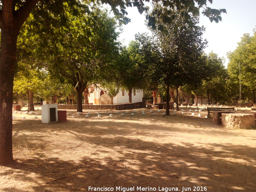
[[[38,0],[26,0],[17,8],[16,1],[1,1],[0,28],[0,164],[9,164],[12,156],[12,90],[16,63],[17,38],[21,26]],[[17,10],[15,10],[17,9]]]

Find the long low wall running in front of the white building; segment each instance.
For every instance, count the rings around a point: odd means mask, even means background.
[[[136,102],[116,105],[82,105],[82,108],[87,110],[126,110],[146,108],[146,104],[145,102]],[[77,105],[58,105],[58,109],[77,109]]]

